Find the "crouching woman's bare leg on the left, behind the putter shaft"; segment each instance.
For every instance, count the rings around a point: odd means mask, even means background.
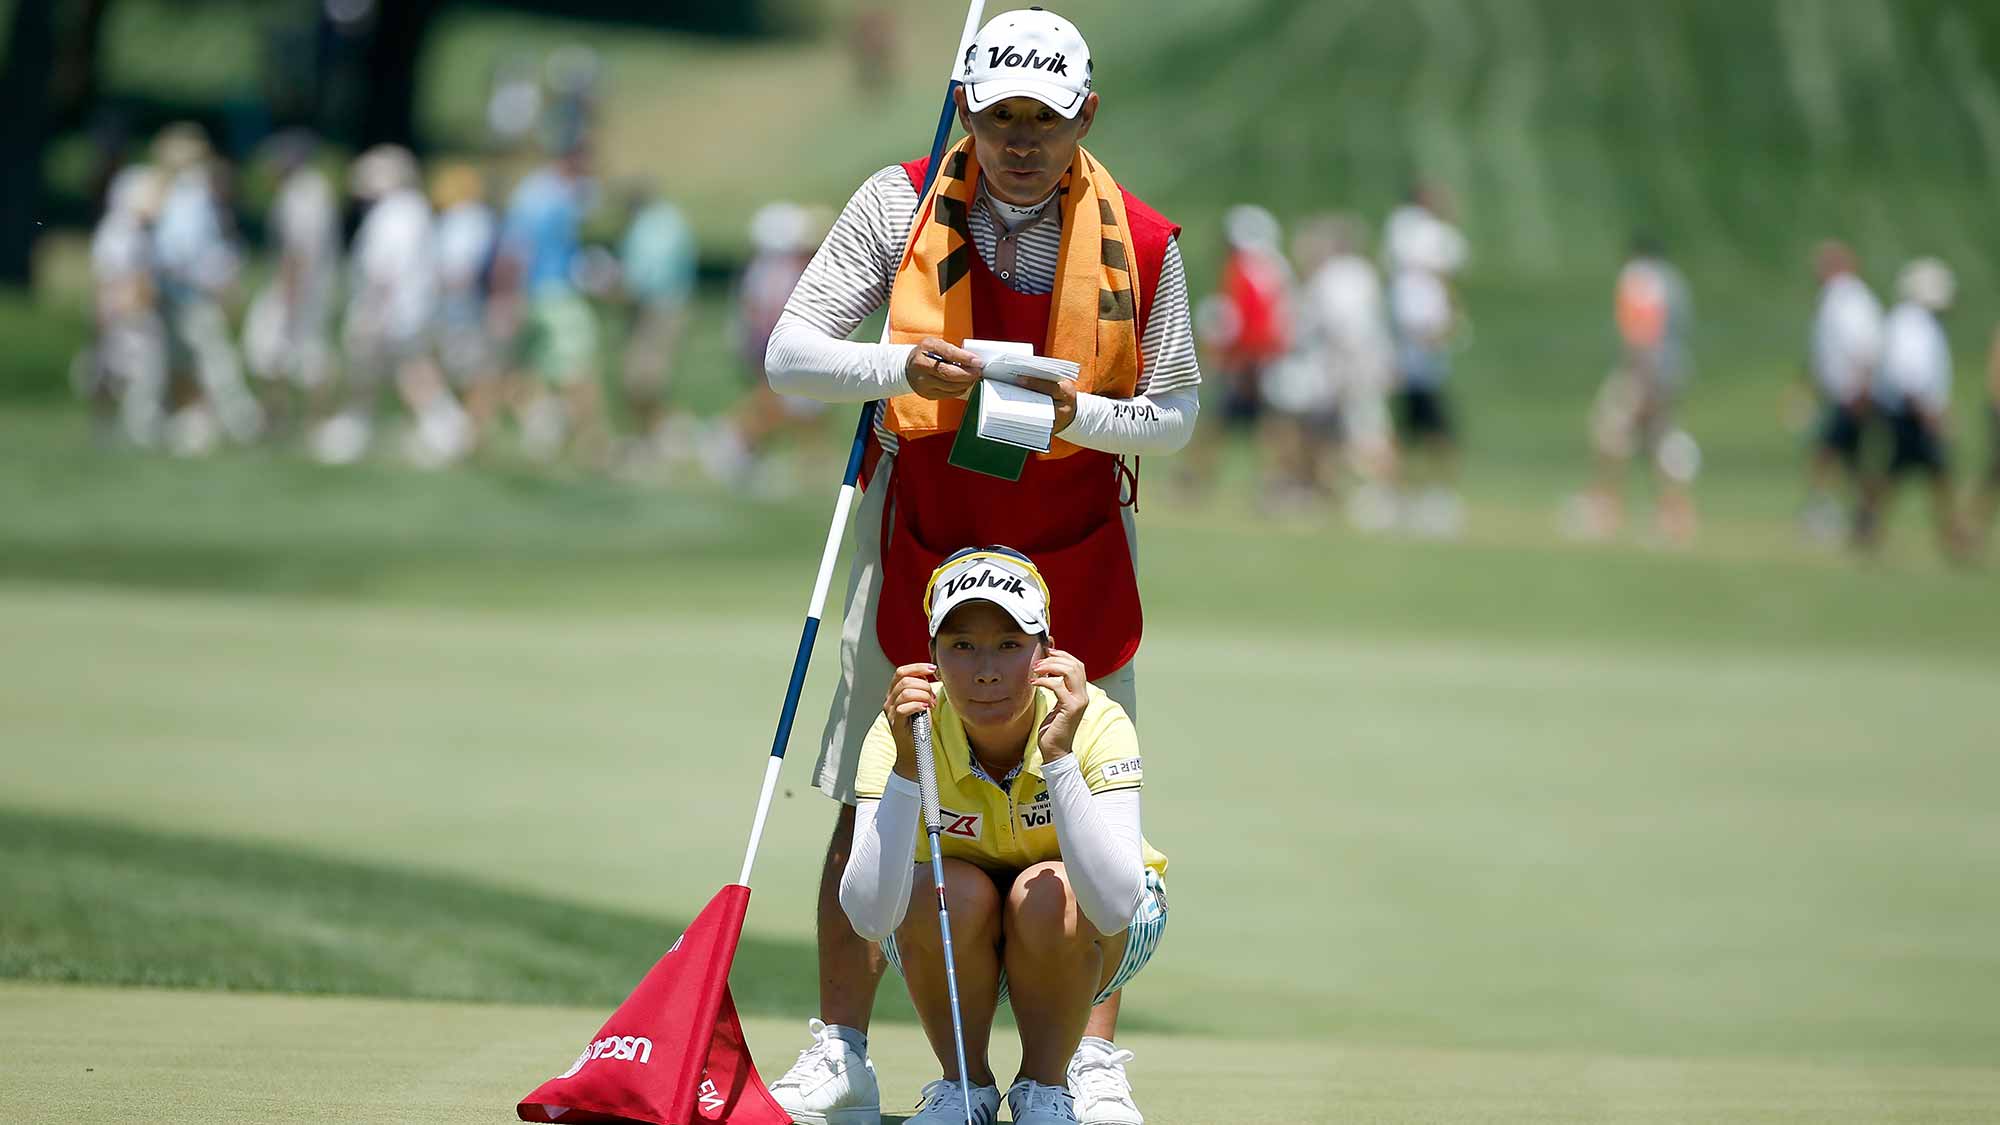
[[[978,867],[946,859],[944,901],[952,913],[952,969],[958,973],[958,1017],[966,1031],[966,1079],[972,1085],[994,1085],[986,1049],[992,1043],[994,1009],[1000,1007],[1000,891]],[[902,979],[910,985],[910,1003],[924,1021],[930,1051],[944,1067],[944,1077],[956,1081],[952,993],[944,981],[938,887],[928,863],[920,863],[910,881],[910,913],[896,927],[896,949],[902,953]],[[1068,1067],[1070,1057],[1064,1055],[1062,1063]]]

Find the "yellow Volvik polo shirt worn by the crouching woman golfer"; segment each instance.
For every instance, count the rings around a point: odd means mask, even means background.
[[[1070,749],[1084,771],[1084,783],[1090,785],[1090,793],[1138,789],[1144,781],[1138,733],[1118,701],[1096,685],[1088,687],[1090,705]],[[1054,703],[1056,697],[1048,689],[1034,689],[1032,731],[1042,729],[1042,719]],[[1006,789],[972,765],[972,745],[966,743],[966,729],[942,685],[938,705],[930,711],[930,733],[938,763],[938,811],[944,823],[938,839],[944,843],[946,859],[962,859],[986,871],[1022,871],[1062,859],[1062,847],[1056,843],[1056,805],[1042,781],[1042,747],[1032,733],[1020,773]],[[894,769],[896,739],[888,733],[888,717],[876,715],[854,773],[856,797],[878,801]],[[916,835],[916,863],[930,863],[930,837],[924,831]],[[1166,875],[1166,857],[1150,843],[1146,843],[1146,867]]]

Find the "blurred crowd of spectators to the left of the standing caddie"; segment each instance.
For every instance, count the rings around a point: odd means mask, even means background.
[[[548,72],[554,96],[534,68],[494,82],[494,134],[548,138],[512,184],[472,160],[426,168],[382,144],[342,166],[310,132],[272,136],[254,154],[276,184],[262,260],[234,228],[238,168],[198,126],[162,130],[110,180],[92,234],[96,334],[74,382],[100,432],[186,456],[286,442],[326,464],[386,438],[432,468],[508,442],[594,470],[684,456],[734,482],[776,436],[812,430],[816,404],[756,376],[822,216],[772,202],[750,224],[740,408],[670,408],[694,234],[656,186],[600,186],[588,52],[560,50]],[[614,238],[590,242],[586,224]]]

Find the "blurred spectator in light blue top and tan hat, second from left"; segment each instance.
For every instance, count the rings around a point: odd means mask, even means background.
[[[154,162],[166,178],[154,254],[168,362],[176,374],[190,372],[200,388],[196,402],[172,414],[168,446],[204,452],[214,444],[218,422],[232,440],[256,440],[264,410],[244,384],[222,312],[242,262],[222,208],[216,154],[202,126],[180,122],[154,138]]]

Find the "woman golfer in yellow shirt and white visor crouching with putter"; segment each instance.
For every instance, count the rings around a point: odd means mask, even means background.
[[[928,711],[972,1119],[1000,1111],[986,1053],[1010,1001],[1014,1121],[1072,1123],[1066,1071],[1090,1007],[1136,977],[1166,931],[1166,857],[1140,833],[1138,735],[1084,665],[1050,647],[1048,587],[1026,554],[952,554],[922,611],[930,661],[896,669],[862,743],[840,907],[902,973],[944,1067],[910,1123],[962,1125],[944,941],[932,911],[910,909],[936,899],[910,733]]]

